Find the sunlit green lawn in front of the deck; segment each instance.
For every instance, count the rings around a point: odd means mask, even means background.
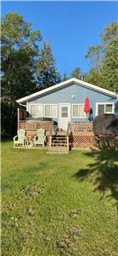
[[[118,255],[118,151],[12,147],[2,143],[2,255]]]

